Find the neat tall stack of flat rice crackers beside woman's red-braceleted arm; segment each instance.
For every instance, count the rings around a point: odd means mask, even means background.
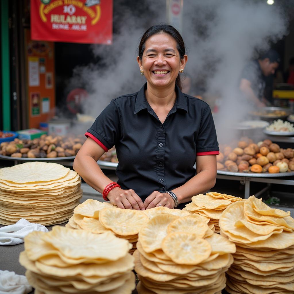
[[[61,164],[27,162],[0,169],[0,223],[64,223],[82,197],[80,176]]]

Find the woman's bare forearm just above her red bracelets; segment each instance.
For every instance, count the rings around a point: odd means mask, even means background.
[[[73,168],[89,186],[100,193],[112,182],[111,179],[104,175],[97,162],[91,156],[76,156]]]

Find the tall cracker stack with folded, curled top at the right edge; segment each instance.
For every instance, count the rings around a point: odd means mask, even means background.
[[[251,196],[233,203],[219,221],[236,244],[228,293],[294,293],[294,219]]]

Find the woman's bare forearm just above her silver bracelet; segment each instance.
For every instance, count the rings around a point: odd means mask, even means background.
[[[211,189],[215,183],[216,174],[209,170],[203,170],[183,186],[173,189],[172,192],[177,195],[179,203],[185,203],[191,201],[192,196],[205,193]]]

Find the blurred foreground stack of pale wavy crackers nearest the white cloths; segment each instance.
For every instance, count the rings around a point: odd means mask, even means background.
[[[24,238],[19,262],[35,293],[131,294],[134,258],[127,240],[55,226]]]

